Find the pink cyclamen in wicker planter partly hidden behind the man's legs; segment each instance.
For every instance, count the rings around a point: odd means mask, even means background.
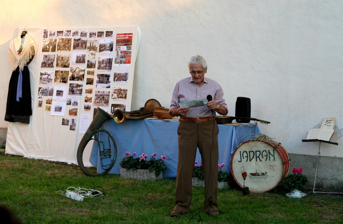
[[[192,178],[192,185],[193,186],[204,186],[204,171],[202,170],[202,161],[200,162],[200,166],[197,166],[197,161],[194,164],[193,170],[193,178]],[[222,168],[225,164],[218,164],[218,188],[229,188],[228,185],[228,178],[231,173],[227,171],[222,171]]]

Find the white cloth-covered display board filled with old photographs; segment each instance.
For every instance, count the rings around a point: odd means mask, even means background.
[[[140,32],[137,27],[43,28],[32,35],[37,46],[29,64],[33,115],[22,130],[9,124],[6,148],[9,154],[77,164],[78,144],[97,108],[110,114],[131,110]]]

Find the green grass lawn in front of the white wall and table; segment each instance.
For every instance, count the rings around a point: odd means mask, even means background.
[[[214,217],[201,210],[204,189],[193,187],[190,210],[172,218],[175,184],[174,179],[131,180],[115,174],[88,177],[73,164],[0,152],[0,204],[22,223],[197,223],[199,217],[200,223],[343,222],[343,198],[310,193],[291,199],[282,187],[248,195],[236,187],[219,190],[221,214]],[[102,187],[104,196],[81,202],[56,192],[68,187]]]

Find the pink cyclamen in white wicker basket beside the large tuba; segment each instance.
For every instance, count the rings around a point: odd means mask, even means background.
[[[162,171],[167,170],[164,164],[166,156],[161,156],[161,159],[156,159],[156,153],[151,154],[150,160],[147,160],[147,155],[136,157],[136,153],[130,156],[126,152],[126,157],[120,161],[120,175],[131,179],[162,179]]]

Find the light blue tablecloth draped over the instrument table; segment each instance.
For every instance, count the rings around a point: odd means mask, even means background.
[[[249,123],[249,127],[218,125],[218,147],[219,147],[219,164],[224,163],[223,171],[230,172],[230,159],[238,144],[250,140],[250,134],[260,133],[258,126]],[[117,124],[113,119],[106,121],[101,128],[107,130],[115,139],[117,145],[117,161],[109,173],[120,174],[119,163],[120,160],[126,157],[125,153],[129,152],[132,155],[134,152],[136,157],[142,153],[148,155],[150,159],[151,154],[156,153],[156,159],[161,156],[166,156],[164,163],[167,170],[163,171],[164,178],[176,178],[176,168],[178,160],[178,135],[177,128],[178,121],[164,121],[164,120],[127,120],[123,123]],[[103,135],[100,134],[100,139]],[[104,139],[105,140],[105,139]],[[200,166],[201,156],[199,150],[197,152],[196,161]],[[91,164],[97,168],[98,172],[102,172],[100,159],[98,156],[97,142],[94,141],[91,158]]]

